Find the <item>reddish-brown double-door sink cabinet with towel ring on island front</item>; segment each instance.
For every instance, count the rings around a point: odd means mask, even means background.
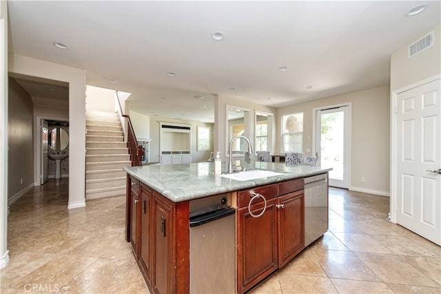
[[[303,179],[293,179],[238,192],[238,293],[249,291],[305,248],[303,187]],[[267,199],[267,208],[260,217],[249,213],[251,190]],[[263,198],[256,197],[252,214],[259,215],[264,205]]]

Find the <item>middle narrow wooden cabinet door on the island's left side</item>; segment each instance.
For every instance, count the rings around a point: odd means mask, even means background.
[[[141,238],[140,238],[140,248],[141,253],[139,256],[139,265],[141,268],[141,273],[143,273],[143,276],[145,277],[145,280],[147,280],[147,283],[150,284],[150,242],[151,242],[151,235],[150,235],[150,223],[151,221],[151,215],[152,215],[152,190],[148,188],[147,186],[141,184]]]

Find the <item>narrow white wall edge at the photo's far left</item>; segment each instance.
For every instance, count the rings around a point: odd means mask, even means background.
[[[0,1],[0,268],[8,253],[8,2]]]

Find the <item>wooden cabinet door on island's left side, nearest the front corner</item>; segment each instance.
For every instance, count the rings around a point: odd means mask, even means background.
[[[152,287],[155,293],[172,293],[172,205],[154,193],[152,219]]]

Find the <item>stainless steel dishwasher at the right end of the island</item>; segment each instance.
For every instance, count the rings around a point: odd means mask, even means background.
[[[305,177],[305,247],[328,230],[328,175]]]

